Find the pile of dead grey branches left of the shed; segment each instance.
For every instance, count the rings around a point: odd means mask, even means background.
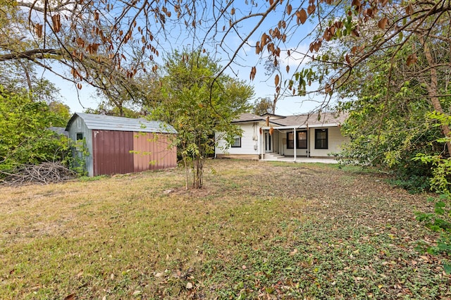
[[[12,172],[6,173],[0,182],[6,185],[47,185],[55,182],[65,182],[77,176],[73,170],[61,163],[41,163],[39,165],[21,165]]]

